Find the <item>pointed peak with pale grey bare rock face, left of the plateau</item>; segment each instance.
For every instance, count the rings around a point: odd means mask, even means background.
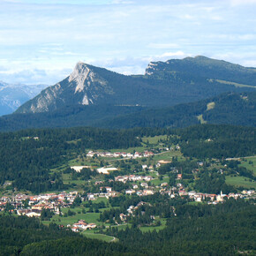
[[[55,86],[46,88],[16,112],[38,113],[58,109],[65,105],[90,105],[97,103],[106,94],[114,94],[108,81],[94,69],[91,65],[76,64],[70,76]]]

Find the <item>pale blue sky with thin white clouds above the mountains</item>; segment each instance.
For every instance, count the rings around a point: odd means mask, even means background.
[[[208,56],[256,67],[256,0],[0,0],[0,80],[54,85],[84,62],[126,75]]]

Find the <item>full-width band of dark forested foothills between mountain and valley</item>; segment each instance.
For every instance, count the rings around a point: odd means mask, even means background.
[[[72,105],[51,112],[0,117],[0,132],[41,127],[186,127],[192,124],[255,126],[256,93],[221,94],[168,108]]]

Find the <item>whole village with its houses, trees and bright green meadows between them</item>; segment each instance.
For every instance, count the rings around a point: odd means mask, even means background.
[[[218,193],[193,191],[188,186],[188,177],[184,170],[170,165],[172,161],[177,161],[177,156],[180,157],[179,161],[182,159],[182,161],[193,164],[181,156],[178,145],[141,152],[134,150],[133,153],[90,150],[86,156],[86,161],[77,161],[85,165],[71,165],[68,172],[64,174],[68,178],[66,181],[68,184],[71,182],[72,185],[79,184],[75,186],[77,190],[70,188],[62,192],[36,195],[29,194],[29,192],[11,193],[11,195],[4,195],[0,198],[0,211],[41,218],[45,224],[59,222],[60,227],[84,233],[89,230],[97,232],[105,225],[107,227],[127,225],[127,219],[131,220],[131,217],[135,217],[140,207],[150,205],[146,202],[147,197],[157,194],[166,196],[169,200],[180,199],[208,205],[219,204],[231,198],[235,200],[255,198],[255,190],[252,189],[227,194],[222,191]],[[219,165],[220,162],[215,161],[212,164]],[[160,169],[167,165],[169,165],[168,172],[162,174]],[[190,175],[198,177],[200,169],[205,168],[206,165],[206,162],[195,162],[193,167],[190,167]],[[227,165],[220,166],[217,173],[222,175],[222,168],[226,167]],[[89,173],[89,177],[83,179],[84,173]],[[172,183],[170,183],[171,177],[174,177]],[[87,190],[83,190],[83,187],[87,187]],[[111,223],[101,221],[100,215],[106,209],[114,209],[110,206],[111,200],[119,197],[125,200],[139,198],[139,203],[131,204],[125,210],[123,209],[118,214],[118,221],[115,218]],[[174,207],[170,207],[169,211],[176,215]],[[143,214],[143,211],[141,213]],[[159,219],[159,216],[151,215],[150,218],[154,222],[155,218]]]

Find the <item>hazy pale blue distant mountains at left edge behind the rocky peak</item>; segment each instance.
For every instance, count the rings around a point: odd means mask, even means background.
[[[11,85],[0,81],[0,116],[11,114],[45,87],[47,86]]]

